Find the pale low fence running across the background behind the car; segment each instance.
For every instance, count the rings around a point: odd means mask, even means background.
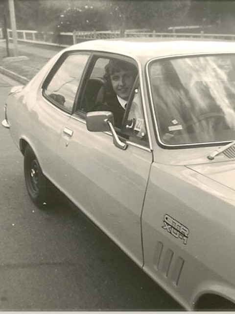
[[[8,38],[12,39],[11,29],[7,29]],[[31,42],[38,44],[54,45],[61,47],[68,47],[73,44],[94,40],[94,39],[108,39],[120,37],[152,37],[152,38],[207,38],[219,40],[235,40],[235,34],[207,34],[201,31],[200,33],[177,33],[165,32],[134,32],[126,31],[120,34],[119,31],[73,31],[73,32],[39,32],[36,30],[17,30],[18,41]],[[0,38],[2,38],[2,31],[0,29]]]

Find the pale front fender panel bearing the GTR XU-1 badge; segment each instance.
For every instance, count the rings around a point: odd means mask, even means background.
[[[234,205],[231,189],[197,172],[151,167],[142,215],[144,269],[185,306],[187,298],[196,301],[198,287],[215,293],[213,283],[222,294],[233,285],[234,272],[224,265],[235,258]]]

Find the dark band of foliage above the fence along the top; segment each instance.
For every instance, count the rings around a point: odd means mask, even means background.
[[[0,0],[0,26],[3,8]],[[215,32],[234,32],[233,0],[15,0],[18,29],[73,31],[149,29],[169,26],[212,25]],[[9,18],[7,27],[10,28]],[[212,28],[211,28],[212,29]]]

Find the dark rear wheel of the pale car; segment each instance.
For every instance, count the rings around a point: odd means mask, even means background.
[[[37,206],[46,205],[47,178],[30,146],[27,146],[24,152],[24,180],[33,203]]]

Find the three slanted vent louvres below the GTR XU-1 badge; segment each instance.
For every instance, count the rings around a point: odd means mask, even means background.
[[[153,257],[154,268],[175,286],[179,283],[184,263],[185,261],[180,256],[176,256],[172,250],[165,249],[161,241],[157,242]]]

